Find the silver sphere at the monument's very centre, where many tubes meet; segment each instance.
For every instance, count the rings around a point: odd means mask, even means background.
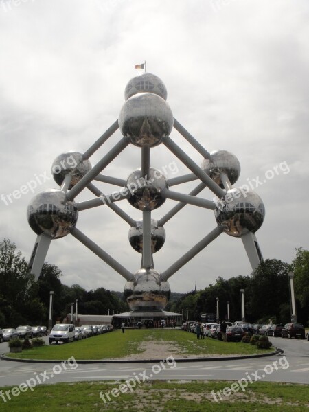
[[[150,168],[150,178],[141,176],[141,169],[135,170],[126,180],[130,192],[129,203],[139,210],[154,210],[165,202],[162,190],[168,187],[165,176],[159,170]]]

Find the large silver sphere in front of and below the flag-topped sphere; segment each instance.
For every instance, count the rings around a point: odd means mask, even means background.
[[[132,144],[152,148],[170,135],[174,117],[164,99],[153,93],[138,93],[124,103],[118,122]]]

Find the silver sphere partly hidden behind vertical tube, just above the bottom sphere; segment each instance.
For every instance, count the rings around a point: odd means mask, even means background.
[[[137,252],[143,251],[143,220],[138,220],[136,226],[130,227],[129,230],[129,242],[130,245]],[[165,229],[163,226],[158,226],[158,222],[155,219],[151,219],[151,251],[155,253],[163,247],[165,242]]]

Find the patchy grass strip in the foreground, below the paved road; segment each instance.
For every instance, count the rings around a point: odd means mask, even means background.
[[[124,381],[122,381],[124,382]],[[245,391],[229,396],[222,394],[216,402],[211,391],[222,391],[230,387],[231,381],[154,381],[137,384],[133,391],[117,392],[118,382],[74,382],[55,385],[40,385],[31,392],[0,398],[3,412],[303,412],[308,410],[308,385],[255,382]],[[8,391],[12,387],[2,388]],[[0,388],[1,389],[1,388]],[[108,393],[111,401],[100,398]],[[115,393],[115,392],[114,392]],[[218,398],[218,397],[217,397]]]

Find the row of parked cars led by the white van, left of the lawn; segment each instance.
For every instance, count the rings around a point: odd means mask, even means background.
[[[111,332],[113,325],[81,325],[74,326],[72,323],[56,323],[49,334],[49,345],[52,343],[69,343],[79,341],[98,334]]]

